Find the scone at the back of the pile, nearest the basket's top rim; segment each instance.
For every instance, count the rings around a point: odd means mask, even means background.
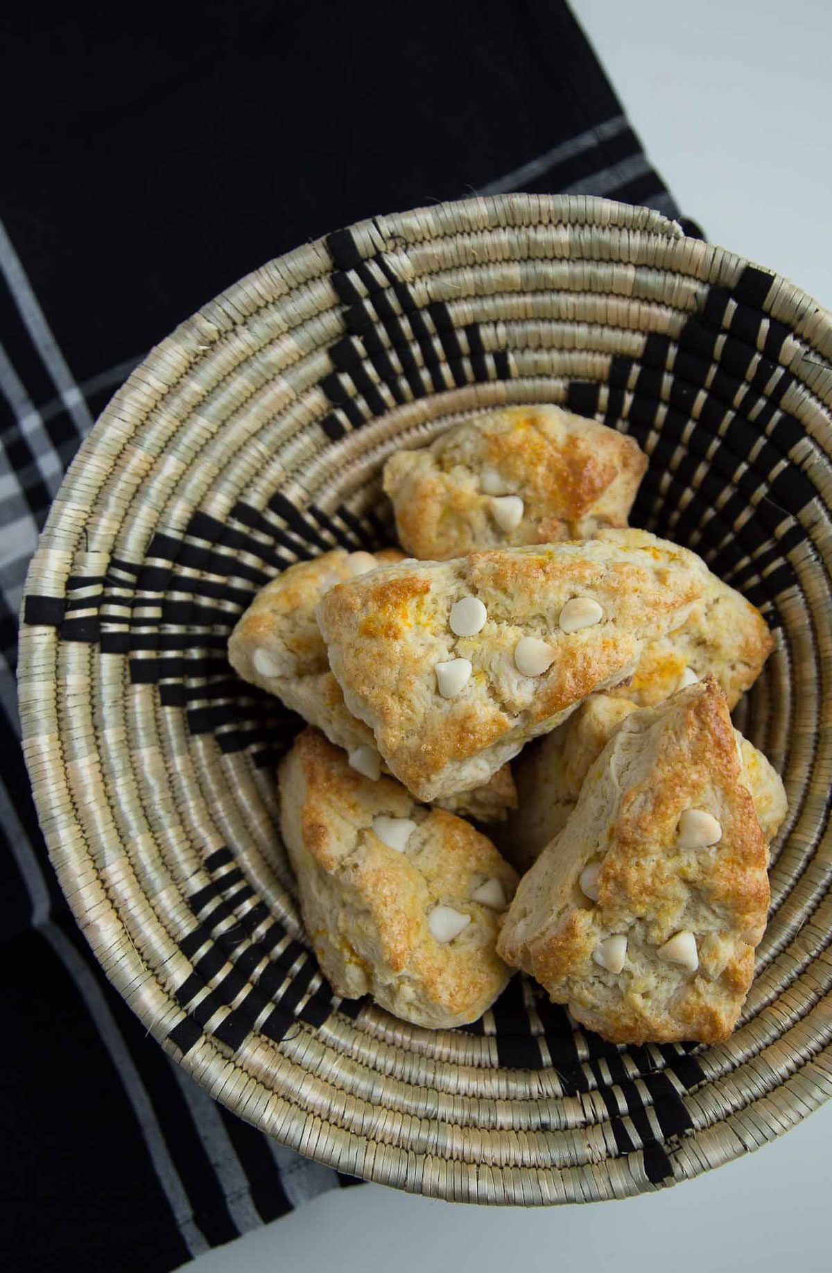
[[[646,467],[634,438],[595,420],[558,406],[509,406],[421,451],[396,452],[384,490],[407,551],[445,561],[626,526]]]

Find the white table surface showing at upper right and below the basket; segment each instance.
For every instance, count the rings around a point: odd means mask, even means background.
[[[711,242],[832,308],[832,0],[572,0],[572,9],[683,211]],[[627,1202],[489,1209],[361,1185],[188,1268],[635,1273],[660,1263],[673,1273],[794,1264],[814,1273],[832,1268],[831,1164],[832,1104],[754,1155]]]

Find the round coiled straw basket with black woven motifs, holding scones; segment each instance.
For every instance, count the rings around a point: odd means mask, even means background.
[[[832,317],[597,199],[377,218],[163,341],[61,488],[22,629],[25,752],[98,959],[215,1097],[302,1153],[481,1203],[622,1198],[771,1141],[832,1090]],[[340,1002],[276,829],[298,721],[225,642],[299,558],[392,540],[385,456],[561,402],[650,456],[634,523],[701,552],[777,649],[738,724],[784,774],[772,915],[735,1035],[618,1049],[518,976],[464,1030]]]

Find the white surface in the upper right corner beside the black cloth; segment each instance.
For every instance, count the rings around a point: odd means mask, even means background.
[[[832,309],[829,0],[571,8],[682,213]]]

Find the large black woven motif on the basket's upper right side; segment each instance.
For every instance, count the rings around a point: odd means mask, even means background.
[[[710,289],[678,341],[650,335],[641,358],[614,359],[603,406],[599,384],[572,384],[567,401],[650,451],[632,521],[679,542],[705,521],[705,542],[690,546],[777,626],[776,598],[795,583],[789,554],[808,542],[798,516],[814,490],[789,462],[803,428],[780,405],[794,377],[777,363],[787,330],[761,308],[770,284],[748,266],[733,292]],[[681,502],[691,516],[677,522]]]

